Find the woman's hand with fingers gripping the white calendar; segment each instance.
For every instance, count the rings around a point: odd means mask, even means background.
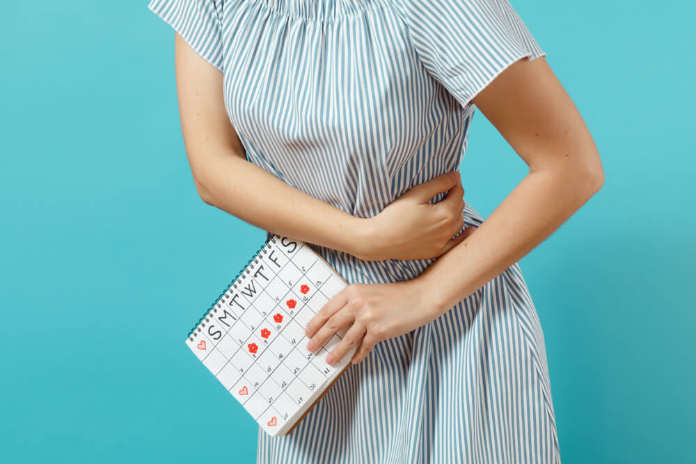
[[[429,323],[435,314],[427,303],[427,292],[418,278],[383,284],[348,285],[326,302],[310,320],[305,335],[310,337],[308,351],[315,351],[331,336],[352,326],[341,342],[326,357],[333,365],[359,344],[354,363],[360,362],[381,340],[403,335]]]

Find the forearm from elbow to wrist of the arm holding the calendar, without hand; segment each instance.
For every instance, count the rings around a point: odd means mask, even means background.
[[[434,317],[527,255],[601,188],[570,170],[530,172],[467,239],[416,280],[433,295]]]

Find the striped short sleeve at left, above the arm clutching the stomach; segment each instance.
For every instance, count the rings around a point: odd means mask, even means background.
[[[224,0],[151,0],[148,9],[173,27],[197,54],[223,70]]]

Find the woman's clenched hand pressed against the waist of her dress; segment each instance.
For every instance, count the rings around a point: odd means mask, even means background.
[[[448,194],[436,204],[438,193]],[[445,173],[411,187],[382,211],[368,219],[369,243],[363,243],[360,257],[366,260],[429,259],[447,253],[466,239],[476,227],[464,226],[464,187],[459,171]]]

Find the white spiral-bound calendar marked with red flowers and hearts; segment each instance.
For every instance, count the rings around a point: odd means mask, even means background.
[[[266,433],[287,435],[358,349],[326,362],[348,328],[306,349],[309,321],[347,285],[307,243],[268,234],[186,343]]]

